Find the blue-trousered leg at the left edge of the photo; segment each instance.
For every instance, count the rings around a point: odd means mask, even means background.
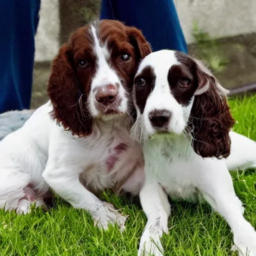
[[[0,1],[0,113],[29,108],[40,0]]]

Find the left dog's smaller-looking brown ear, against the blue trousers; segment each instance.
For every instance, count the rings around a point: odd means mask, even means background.
[[[152,52],[149,42],[146,41],[141,31],[135,27],[127,27],[127,34],[130,43],[135,48],[136,56],[139,56],[137,61],[144,58],[150,52]]]

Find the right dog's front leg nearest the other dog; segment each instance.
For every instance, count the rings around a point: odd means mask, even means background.
[[[170,204],[166,193],[157,182],[146,181],[139,192],[139,199],[147,217],[147,223],[139,242],[139,256],[163,255],[160,237],[168,233],[167,220]]]

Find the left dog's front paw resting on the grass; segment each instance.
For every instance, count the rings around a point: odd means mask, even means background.
[[[114,223],[116,223],[121,231],[125,229],[124,223],[127,217],[127,215],[119,213],[118,210],[108,202],[102,202],[98,210],[92,215],[94,226],[106,230],[108,224],[114,225]]]

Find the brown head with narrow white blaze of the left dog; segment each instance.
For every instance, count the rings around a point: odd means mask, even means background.
[[[151,52],[141,32],[114,20],[74,31],[51,65],[52,116],[72,134],[91,133],[95,119],[128,113],[138,62]]]

